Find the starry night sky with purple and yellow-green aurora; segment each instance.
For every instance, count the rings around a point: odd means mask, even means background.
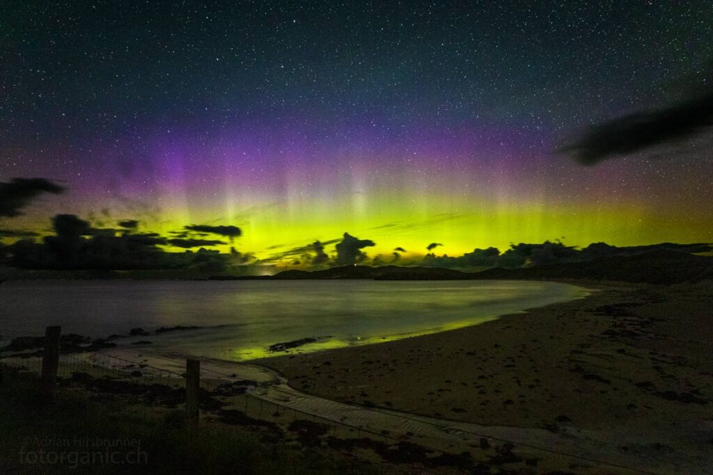
[[[696,0],[4,1],[0,178],[68,189],[11,226],[235,225],[264,259],[712,241],[711,147],[561,151],[705,85],[712,30]]]

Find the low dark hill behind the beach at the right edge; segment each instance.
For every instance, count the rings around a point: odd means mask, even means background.
[[[635,256],[600,257],[589,262],[557,263],[520,269],[492,268],[476,279],[568,278],[594,281],[672,284],[713,279],[713,257],[659,249]]]

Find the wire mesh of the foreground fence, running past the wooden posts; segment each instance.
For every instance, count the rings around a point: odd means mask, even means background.
[[[124,353],[130,353],[125,351]],[[81,387],[91,392],[106,392],[126,397],[135,404],[127,409],[139,416],[157,411],[185,409],[186,374],[180,370],[149,365],[148,357],[134,353],[119,357],[103,351],[61,353],[58,365],[58,385]],[[180,360],[165,359],[172,368],[185,367]],[[40,375],[42,358],[0,357],[0,365],[15,367],[20,371]],[[335,418],[322,417],[294,405],[268,400],[256,390],[255,382],[240,380],[226,372],[202,368],[200,372],[199,407],[202,424],[217,422],[235,426],[250,426],[278,437],[292,434],[302,447],[339,451],[359,461],[371,464],[412,462],[424,466],[450,467],[454,470],[472,469],[478,462],[497,460],[498,464],[523,461],[511,449],[517,445],[528,449],[532,465],[543,455],[556,455],[565,459],[586,461],[612,469],[648,473],[617,464],[607,463],[546,447],[517,444],[506,439],[477,434],[467,430],[437,427],[445,432],[457,432],[445,442],[424,434],[407,431],[391,432],[366,422],[349,424]],[[379,411],[379,408],[369,408]],[[408,419],[407,414],[404,417]],[[429,424],[418,419],[419,424]]]

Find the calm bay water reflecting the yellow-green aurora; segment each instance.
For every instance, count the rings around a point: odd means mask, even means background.
[[[93,338],[130,328],[200,326],[116,340],[165,354],[247,360],[273,343],[317,338],[310,351],[475,325],[585,296],[515,281],[27,281],[0,285],[0,345],[47,325]],[[146,347],[130,343],[149,340]]]

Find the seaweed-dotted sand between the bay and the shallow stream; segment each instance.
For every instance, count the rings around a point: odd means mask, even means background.
[[[590,288],[587,298],[482,325],[257,362],[332,400],[580,429],[662,466],[711,466],[713,288]]]

